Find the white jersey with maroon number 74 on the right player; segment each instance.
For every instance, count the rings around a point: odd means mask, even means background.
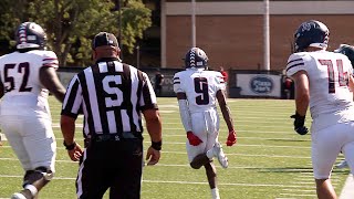
[[[312,118],[345,109],[354,113],[353,93],[348,88],[353,69],[347,56],[327,51],[293,53],[288,60],[287,75],[299,71],[305,71],[309,76]]]

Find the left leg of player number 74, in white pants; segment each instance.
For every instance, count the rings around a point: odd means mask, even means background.
[[[345,125],[336,124],[311,134],[313,174],[320,199],[336,198],[330,177],[335,159],[341,153],[342,134],[340,132],[345,128]],[[336,134],[333,134],[334,132]]]

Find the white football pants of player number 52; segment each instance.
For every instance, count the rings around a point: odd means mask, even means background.
[[[1,116],[9,144],[24,170],[46,167],[54,172],[56,143],[50,119],[30,116]]]

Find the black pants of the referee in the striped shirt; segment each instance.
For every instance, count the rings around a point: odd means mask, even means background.
[[[143,140],[92,142],[84,153],[76,178],[80,199],[139,199]]]

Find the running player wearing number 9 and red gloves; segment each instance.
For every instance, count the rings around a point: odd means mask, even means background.
[[[237,142],[230,109],[225,95],[225,81],[220,72],[207,71],[208,56],[199,48],[190,49],[185,57],[186,70],[174,76],[174,91],[177,94],[180,119],[187,133],[186,148],[190,167],[205,167],[214,199],[219,190],[212,157],[221,167],[228,167],[228,158],[222,151],[219,136],[217,101],[228,126],[227,146]]]

